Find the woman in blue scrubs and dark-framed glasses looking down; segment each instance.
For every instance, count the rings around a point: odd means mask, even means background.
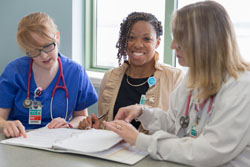
[[[0,77],[0,128],[6,137],[25,129],[78,127],[97,94],[86,71],[58,51],[60,34],[45,13],[25,16],[17,42],[27,56],[10,62]]]

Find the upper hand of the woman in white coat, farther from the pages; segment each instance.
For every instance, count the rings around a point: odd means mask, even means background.
[[[142,114],[141,105],[130,105],[127,107],[122,107],[118,110],[115,120],[124,120],[126,122],[131,122]]]

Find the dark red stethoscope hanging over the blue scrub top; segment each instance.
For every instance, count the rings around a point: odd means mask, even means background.
[[[65,114],[65,120],[66,120],[67,117],[68,117],[68,110],[69,110],[69,93],[68,93],[68,89],[67,89],[66,84],[65,84],[64,76],[63,76],[63,68],[62,68],[61,59],[58,57],[58,58],[57,58],[57,61],[58,61],[58,63],[59,63],[60,72],[59,72],[59,76],[58,76],[56,85],[55,85],[55,87],[54,87],[54,89],[53,89],[53,91],[52,91],[52,95],[51,95],[51,101],[50,101],[50,117],[51,117],[51,119],[53,119],[52,104],[53,104],[53,99],[54,99],[54,96],[55,96],[55,92],[56,92],[57,89],[63,89],[63,90],[65,91],[66,103],[67,103],[66,114]],[[31,59],[31,60],[30,60],[30,65],[29,65],[29,75],[28,75],[28,88],[27,88],[27,94],[26,94],[26,98],[25,98],[24,101],[23,101],[23,106],[24,106],[25,108],[30,108],[31,105],[32,105],[32,100],[30,99],[30,80],[31,80],[32,64],[33,64],[33,60]],[[62,83],[63,83],[62,86],[59,86],[60,79],[62,79]]]

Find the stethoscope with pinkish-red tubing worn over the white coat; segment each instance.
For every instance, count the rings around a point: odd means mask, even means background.
[[[191,102],[191,97],[192,97],[192,91],[190,91],[189,96],[188,96],[188,101],[187,101],[187,106],[186,106],[186,110],[185,110],[185,116],[182,116],[180,118],[180,125],[181,128],[187,128],[190,122],[190,118],[188,116],[188,112],[189,112],[189,106],[190,106],[190,102]],[[204,100],[201,104],[200,104],[200,108],[203,108],[204,105],[206,104],[208,99]],[[209,98],[209,106],[207,109],[207,113],[209,113],[212,109],[212,105],[213,105],[213,97]],[[196,112],[199,112],[197,105],[195,104],[195,110]]]

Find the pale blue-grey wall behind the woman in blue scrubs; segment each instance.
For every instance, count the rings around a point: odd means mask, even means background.
[[[71,0],[1,0],[0,1],[0,73],[11,60],[24,56],[16,43],[19,20],[32,12],[45,12],[58,26],[61,35],[60,51],[72,57]]]

